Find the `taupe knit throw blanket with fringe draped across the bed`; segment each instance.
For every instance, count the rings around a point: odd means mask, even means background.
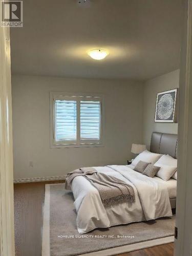
[[[131,185],[115,177],[98,173],[93,167],[84,167],[68,173],[66,189],[71,190],[71,183],[77,176],[83,176],[97,188],[104,207],[123,202],[135,202],[135,192]]]

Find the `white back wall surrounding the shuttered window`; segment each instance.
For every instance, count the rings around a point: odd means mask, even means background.
[[[104,94],[103,147],[50,148],[50,91]],[[140,82],[13,76],[12,104],[15,179],[63,176],[81,166],[126,164],[131,144],[143,142]]]

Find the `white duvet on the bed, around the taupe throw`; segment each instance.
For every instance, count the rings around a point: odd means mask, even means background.
[[[125,165],[94,168],[99,173],[105,173],[127,184],[132,184],[135,203],[124,202],[104,208],[98,190],[83,176],[75,177],[71,187],[75,199],[79,233],[87,233],[95,228],[172,216],[168,190],[162,182],[135,172]]]

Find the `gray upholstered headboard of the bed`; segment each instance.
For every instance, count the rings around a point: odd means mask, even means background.
[[[177,143],[176,134],[154,132],[152,134],[150,151],[177,158]]]

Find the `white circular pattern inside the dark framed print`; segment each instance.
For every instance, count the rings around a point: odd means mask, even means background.
[[[174,99],[171,94],[164,94],[157,105],[157,115],[159,119],[166,120],[174,112]]]

